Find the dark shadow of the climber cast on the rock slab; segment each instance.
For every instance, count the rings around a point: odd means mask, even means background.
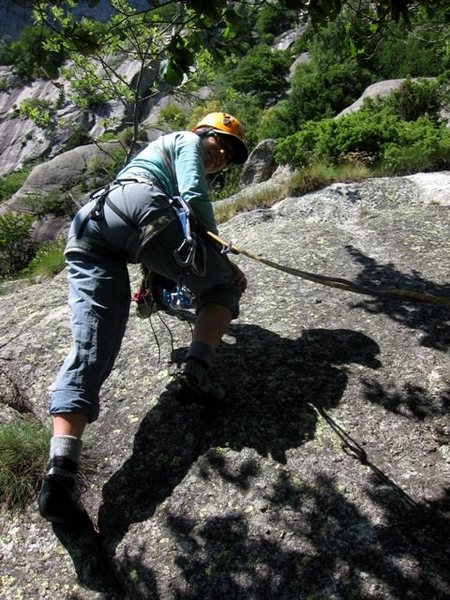
[[[132,455],[104,485],[98,522],[110,552],[132,523],[153,515],[200,455],[226,445],[284,463],[288,449],[314,437],[317,416],[308,403],[336,406],[346,365],[380,366],[378,345],[351,330],[306,330],[292,340],[256,325],[233,325],[227,339],[219,349],[226,371],[218,373],[232,382],[225,406],[211,416],[164,392],[142,420]]]

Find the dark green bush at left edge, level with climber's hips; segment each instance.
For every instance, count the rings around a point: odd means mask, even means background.
[[[31,230],[34,216],[7,212],[0,215],[0,275],[20,271],[34,253]]]

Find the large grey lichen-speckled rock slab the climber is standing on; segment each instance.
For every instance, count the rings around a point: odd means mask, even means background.
[[[372,179],[221,233],[284,265],[448,299],[449,206],[448,172]],[[132,309],[83,451],[99,533],[52,528],[33,505],[2,512],[0,598],[450,596],[448,307],[235,260],[249,288],[218,351],[226,405],[176,402],[190,324],[156,317],[154,335]],[[2,402],[11,416],[19,395],[47,423],[70,347],[65,274],[0,311]]]

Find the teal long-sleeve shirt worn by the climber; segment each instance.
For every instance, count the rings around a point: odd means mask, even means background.
[[[190,131],[163,135],[151,142],[120,171],[118,177],[147,176],[170,196],[181,196],[196,219],[217,233],[208,195],[201,138]]]

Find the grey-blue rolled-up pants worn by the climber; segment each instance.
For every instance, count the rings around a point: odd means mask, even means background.
[[[98,220],[86,219],[89,202],[75,216],[66,248],[73,345],[52,388],[50,413],[99,415],[99,393],[119,353],[130,312],[127,263],[180,281],[194,295],[196,309],[221,304],[239,314],[241,290],[228,261],[204,245],[205,275],[185,274],[174,257],[182,228],[167,196],[146,183],[127,183],[110,193],[111,201],[134,224],[110,207]],[[82,235],[77,239],[77,233]]]

